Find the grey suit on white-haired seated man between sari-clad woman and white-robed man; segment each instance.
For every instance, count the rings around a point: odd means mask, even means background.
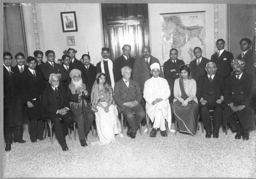
[[[140,85],[136,81],[130,79],[129,88],[125,85],[123,79],[115,83],[114,100],[117,104],[117,110],[127,118],[131,131],[134,134],[136,134],[141,120],[145,117],[145,111],[140,104],[141,97]],[[139,104],[133,108],[123,105],[129,101],[138,101]]]

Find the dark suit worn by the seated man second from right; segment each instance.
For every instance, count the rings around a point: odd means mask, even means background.
[[[212,82],[209,80],[208,75],[200,76],[196,85],[196,97],[198,101],[203,97],[207,101],[205,105],[200,104],[200,116],[204,123],[206,132],[219,133],[222,106],[217,104],[216,101],[224,96],[225,81],[223,76],[214,75]],[[209,110],[214,110],[212,117],[212,125]]]

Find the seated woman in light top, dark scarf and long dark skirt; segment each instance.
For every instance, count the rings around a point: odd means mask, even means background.
[[[190,69],[180,66],[180,78],[174,82],[173,112],[179,124],[180,132],[195,136],[198,127],[198,101],[196,99],[196,82],[191,78]]]

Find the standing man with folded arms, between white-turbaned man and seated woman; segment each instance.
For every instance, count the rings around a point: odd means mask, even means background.
[[[167,80],[170,90],[171,90],[171,95],[169,97],[170,103],[173,103],[173,87],[174,87],[174,82],[177,78],[179,78],[179,69],[180,66],[182,66],[184,61],[177,59],[178,57],[178,50],[175,48],[172,48],[170,50],[170,59],[166,62],[164,62],[164,78]]]

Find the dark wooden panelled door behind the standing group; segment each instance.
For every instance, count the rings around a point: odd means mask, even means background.
[[[131,45],[131,56],[139,58],[142,47],[148,45],[147,4],[102,4],[105,47],[115,61],[122,47]]]

